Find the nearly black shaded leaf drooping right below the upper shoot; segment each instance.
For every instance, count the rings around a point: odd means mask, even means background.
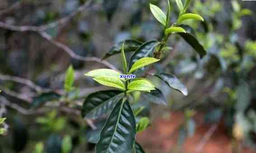
[[[203,58],[206,55],[204,47],[199,43],[199,41],[190,33],[179,32],[178,33],[191,47]]]

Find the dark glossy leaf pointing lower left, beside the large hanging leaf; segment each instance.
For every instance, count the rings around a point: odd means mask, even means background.
[[[123,98],[122,91],[105,90],[90,94],[83,103],[82,117],[96,119],[114,108]]]

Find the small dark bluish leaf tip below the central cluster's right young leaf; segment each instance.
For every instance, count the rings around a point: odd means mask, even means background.
[[[161,92],[161,90],[157,89],[152,90],[150,93],[145,93],[147,99],[151,101],[152,103],[157,103],[157,104],[164,104],[167,105],[167,101]]]

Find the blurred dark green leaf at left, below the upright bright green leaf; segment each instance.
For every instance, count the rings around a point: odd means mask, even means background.
[[[43,104],[47,101],[58,100],[59,98],[61,98],[61,95],[53,91],[40,94],[36,97],[33,97],[33,103],[31,104],[31,108],[38,108],[40,106],[43,106]]]

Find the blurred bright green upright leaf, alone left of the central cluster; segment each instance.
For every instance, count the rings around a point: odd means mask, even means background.
[[[69,92],[73,90],[73,84],[74,84],[74,69],[72,65],[70,65],[66,71],[65,75],[65,81],[64,81],[64,89],[66,92]]]

